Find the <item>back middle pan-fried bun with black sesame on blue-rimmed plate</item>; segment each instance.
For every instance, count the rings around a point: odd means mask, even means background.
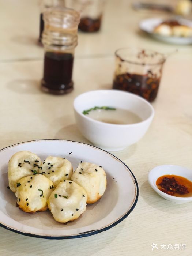
[[[61,157],[47,157],[41,165],[41,173],[53,181],[55,187],[63,180],[70,180],[73,173],[71,162]]]

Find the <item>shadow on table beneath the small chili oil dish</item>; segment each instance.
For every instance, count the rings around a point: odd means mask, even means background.
[[[148,181],[145,181],[141,187],[140,187],[140,197],[142,197],[145,202],[152,206],[153,208],[156,208],[159,211],[162,212],[168,212],[169,214],[183,214],[185,211],[191,211],[189,210],[188,204],[176,204],[172,203],[163,197],[159,196],[153,188],[149,185]],[[188,207],[188,208],[187,208]]]

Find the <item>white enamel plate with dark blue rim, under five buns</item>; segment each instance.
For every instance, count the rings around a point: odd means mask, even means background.
[[[48,155],[67,158],[74,170],[80,161],[103,166],[107,187],[101,199],[86,206],[86,211],[67,224],[56,222],[50,211],[29,214],[16,207],[16,197],[7,188],[8,161],[18,151],[27,150],[41,160]],[[108,230],[123,221],[138,200],[135,176],[120,159],[97,147],[68,140],[34,140],[0,150],[0,226],[26,236],[47,239],[68,239],[91,236]]]

